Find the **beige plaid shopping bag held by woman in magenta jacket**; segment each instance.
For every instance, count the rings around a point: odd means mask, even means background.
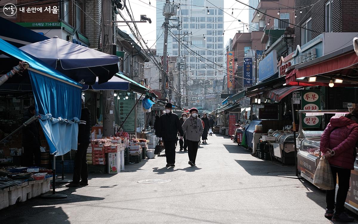
[[[324,190],[333,190],[334,182],[328,159],[322,156],[313,178],[313,184]]]

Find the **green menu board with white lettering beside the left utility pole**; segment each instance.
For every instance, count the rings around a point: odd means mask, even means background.
[[[122,94],[123,96],[123,94]],[[124,97],[121,97],[118,100],[118,111],[119,111],[119,119],[123,122],[127,115],[129,114],[129,112],[132,110],[133,106],[135,105],[136,99],[135,99],[135,94],[131,93],[128,96],[128,99],[124,99]],[[134,108],[134,110],[132,111],[132,113],[129,115],[129,117],[127,118],[126,122],[123,125],[123,130],[125,132],[135,132],[135,113],[136,113],[136,108]]]

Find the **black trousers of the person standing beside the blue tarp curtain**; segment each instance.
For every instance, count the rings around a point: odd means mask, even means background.
[[[75,184],[79,184],[80,179],[87,183],[88,181],[88,165],[86,160],[87,148],[89,144],[80,143],[77,146],[77,152],[74,156],[73,180]]]

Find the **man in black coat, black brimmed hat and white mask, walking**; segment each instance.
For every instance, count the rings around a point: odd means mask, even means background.
[[[165,105],[165,114],[160,116],[158,127],[155,130],[155,135],[163,139],[165,147],[166,166],[175,167],[175,142],[177,133],[180,134],[180,139],[183,139],[183,129],[180,125],[178,115],[171,112],[172,104]]]

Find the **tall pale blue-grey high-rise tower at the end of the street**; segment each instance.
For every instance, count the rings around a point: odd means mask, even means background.
[[[171,1],[172,2],[172,1]],[[179,4],[179,1],[174,1]],[[222,78],[226,71],[224,57],[224,2],[222,0],[181,0],[178,16],[179,30],[174,28],[178,25],[175,20],[170,20],[168,34],[168,56],[184,56],[187,63],[189,82],[193,80],[208,80]],[[157,1],[157,54],[163,55],[163,4]],[[182,34],[182,35],[178,35]],[[183,35],[188,34],[188,35]],[[180,39],[179,39],[180,37]]]

